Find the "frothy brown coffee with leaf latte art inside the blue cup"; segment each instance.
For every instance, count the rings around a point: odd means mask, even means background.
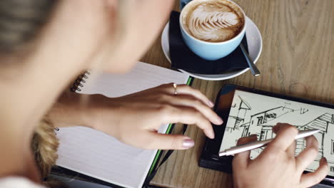
[[[243,14],[228,1],[198,1],[183,14],[188,33],[201,41],[222,42],[237,36],[243,28]]]

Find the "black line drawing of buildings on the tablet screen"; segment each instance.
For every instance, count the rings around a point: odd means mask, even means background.
[[[298,117],[309,115],[309,109],[292,108],[290,107],[290,103],[254,113],[247,100],[241,97],[241,95],[236,96],[238,96],[238,103],[234,103],[231,106],[228,125],[225,130],[225,132],[232,133],[230,135],[233,135],[233,138],[236,139],[235,142],[240,137],[247,137],[253,134],[258,136],[258,140],[268,140],[275,137],[272,128],[277,122],[288,122],[289,118],[293,118],[295,115],[299,115]],[[295,125],[295,127],[298,130],[320,130],[320,132],[314,135],[319,142],[319,155],[315,159],[315,163],[317,163],[315,166],[318,166],[318,162],[322,157],[326,157],[330,165],[330,172],[334,172],[334,113],[323,113],[322,115],[313,117],[309,122]],[[305,140],[297,140],[295,155],[298,155],[304,148]],[[252,150],[251,159],[258,156],[262,150],[263,148]],[[308,169],[314,171],[315,166]]]

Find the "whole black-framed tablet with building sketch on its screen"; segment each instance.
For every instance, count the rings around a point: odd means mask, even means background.
[[[215,111],[220,115],[223,125],[213,125],[215,139],[206,139],[200,167],[232,172],[233,156],[218,157],[218,152],[236,146],[240,137],[258,135],[258,140],[275,136],[272,127],[277,122],[295,125],[298,130],[318,129],[315,134],[319,142],[319,155],[306,169],[317,169],[321,157],[326,157],[330,166],[324,184],[334,182],[334,105],[312,100],[295,98],[263,90],[226,85],[218,93]],[[305,140],[297,140],[298,155],[305,148]],[[251,158],[257,157],[263,148],[251,151]],[[307,173],[305,172],[305,173]]]

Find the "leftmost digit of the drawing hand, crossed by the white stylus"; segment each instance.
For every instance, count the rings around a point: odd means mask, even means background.
[[[238,140],[237,145],[244,145],[249,142],[254,142],[257,140],[257,135],[250,135],[249,137],[241,137],[241,139]],[[233,157],[233,166],[236,166],[237,169],[239,167],[244,168],[248,166],[249,161],[251,160],[249,158],[249,155],[251,154],[251,151],[241,152]]]

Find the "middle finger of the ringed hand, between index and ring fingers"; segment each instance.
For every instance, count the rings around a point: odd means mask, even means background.
[[[208,120],[213,122],[216,125],[221,125],[223,120],[219,117],[208,105],[203,104],[201,100],[193,98],[191,96],[186,95],[163,95],[163,100],[171,105],[176,106],[187,106],[191,108],[195,108],[198,112],[202,113]]]

